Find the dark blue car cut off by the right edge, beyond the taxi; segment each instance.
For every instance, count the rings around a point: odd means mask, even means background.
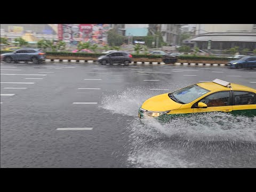
[[[227,66],[230,68],[256,68],[256,56],[254,57],[243,57],[238,60],[229,61]]]

